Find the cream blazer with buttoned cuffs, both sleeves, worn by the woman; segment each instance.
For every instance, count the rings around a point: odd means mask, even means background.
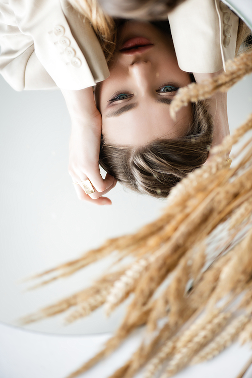
[[[168,15],[178,64],[216,72],[234,58],[238,18],[219,0],[186,0]],[[109,76],[90,23],[67,0],[1,0],[0,73],[23,89],[79,90]]]

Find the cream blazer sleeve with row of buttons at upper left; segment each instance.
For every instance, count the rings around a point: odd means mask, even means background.
[[[0,45],[0,72],[19,91],[80,90],[109,75],[90,23],[66,0],[2,1]]]

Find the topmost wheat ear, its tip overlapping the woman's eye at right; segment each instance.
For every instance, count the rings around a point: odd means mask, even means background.
[[[252,51],[244,52],[234,61],[228,61],[226,72],[215,76],[212,79],[204,80],[202,83],[191,83],[186,87],[180,88],[170,105],[170,114],[175,119],[176,112],[188,102],[196,102],[211,97],[215,92],[227,91],[232,85],[239,81],[243,76],[252,72]]]

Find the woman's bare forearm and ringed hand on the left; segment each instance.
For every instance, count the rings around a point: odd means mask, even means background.
[[[105,205],[111,204],[111,201],[103,195],[115,186],[116,180],[109,174],[103,180],[100,174],[102,119],[94,104],[93,92],[87,91],[89,89],[62,91],[72,120],[69,173],[74,183],[81,184],[81,181],[89,179],[93,185],[95,192],[92,194],[86,194],[80,185],[74,185],[80,199]]]

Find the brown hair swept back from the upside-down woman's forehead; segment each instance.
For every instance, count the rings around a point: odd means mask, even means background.
[[[115,146],[102,138],[99,163],[123,185],[155,197],[205,163],[213,139],[212,117],[205,101],[192,104],[190,132],[177,139],[157,139],[140,147]]]

